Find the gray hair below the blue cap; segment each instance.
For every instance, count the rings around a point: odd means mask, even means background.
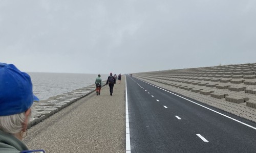
[[[25,112],[8,116],[0,116],[0,130],[15,135],[22,131],[25,119]]]

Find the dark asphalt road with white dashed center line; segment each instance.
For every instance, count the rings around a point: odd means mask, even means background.
[[[128,75],[126,84],[132,153],[256,152],[256,123]]]

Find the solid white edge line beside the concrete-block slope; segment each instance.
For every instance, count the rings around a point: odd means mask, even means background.
[[[136,78],[136,79],[137,79],[137,78]],[[138,79],[138,80],[140,80],[140,79]],[[144,82],[144,83],[147,83],[147,82],[145,82],[145,81],[143,81],[143,80],[140,80],[140,81],[142,81],[142,82]],[[147,84],[152,85],[152,84],[150,84],[150,83],[147,83]],[[155,85],[152,85],[152,86],[157,87],[157,86],[155,86]],[[163,90],[163,91],[169,92],[169,91],[167,91],[167,90],[165,90],[165,89],[162,89],[162,88],[160,88],[160,87],[157,87],[157,88],[159,88],[159,89],[161,89],[161,90]],[[229,116],[227,116],[227,115],[224,115],[224,114],[222,114],[222,113],[220,113],[220,112],[217,112],[217,111],[215,111],[215,110],[212,110],[212,109],[210,109],[210,108],[208,108],[208,107],[205,107],[205,106],[203,106],[203,105],[200,105],[200,104],[198,104],[198,103],[196,103],[196,102],[194,102],[194,101],[192,101],[192,100],[189,100],[189,99],[187,99],[187,98],[184,98],[184,97],[182,97],[182,96],[179,96],[179,95],[177,95],[177,94],[175,94],[175,93],[173,93],[173,92],[169,92],[169,93],[172,93],[172,94],[174,94],[174,95],[176,95],[176,96],[178,96],[178,97],[181,97],[181,98],[183,98],[183,99],[186,99],[186,100],[190,101],[191,103],[194,103],[194,104],[196,104],[196,105],[199,105],[199,106],[201,106],[201,107],[203,107],[203,108],[206,108],[206,109],[208,109],[208,110],[210,110],[210,111],[212,111],[212,112],[218,113],[218,114],[220,114],[220,115],[222,115],[222,116],[225,116],[225,117],[227,117],[227,118],[229,118],[229,119],[232,119],[232,120],[234,120],[234,121],[237,121],[237,122],[239,122],[239,123],[241,123],[241,124],[244,124],[244,125],[246,125],[246,126],[248,126],[248,127],[251,127],[252,129],[256,130],[256,127],[253,127],[253,126],[251,126],[251,125],[249,125],[249,124],[246,124],[246,123],[241,122],[241,121],[239,121],[239,120],[237,120],[237,119],[234,119],[234,118],[229,117]]]

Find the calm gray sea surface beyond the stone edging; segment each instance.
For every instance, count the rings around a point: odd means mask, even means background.
[[[28,72],[33,92],[40,100],[94,84],[98,74]],[[101,74],[102,81],[108,79]]]

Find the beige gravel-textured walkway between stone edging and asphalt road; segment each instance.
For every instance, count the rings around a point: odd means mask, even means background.
[[[24,140],[46,152],[125,152],[125,78],[32,126]]]

